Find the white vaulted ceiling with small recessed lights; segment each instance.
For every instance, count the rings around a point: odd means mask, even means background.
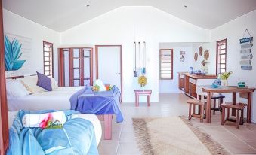
[[[3,6],[57,32],[122,6],[153,6],[188,23],[214,29],[255,10],[256,0],[4,0]]]

